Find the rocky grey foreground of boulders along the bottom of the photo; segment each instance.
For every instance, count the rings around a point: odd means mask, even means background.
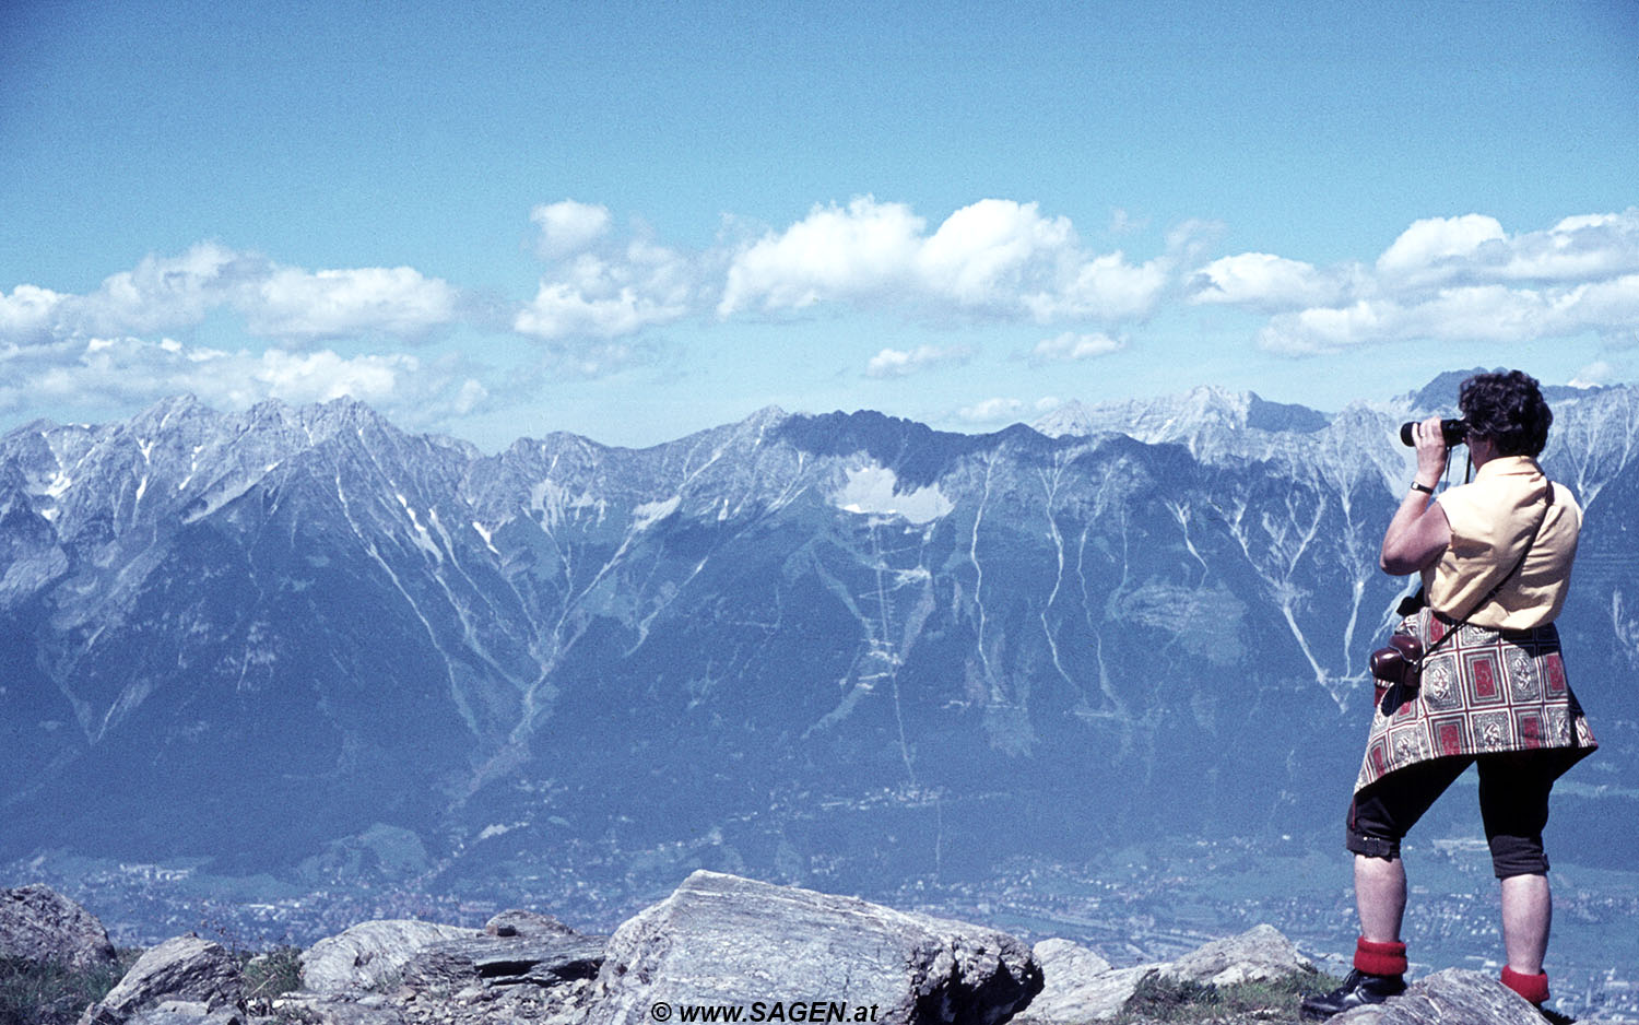
[[[102,925],[46,887],[0,891],[0,961],[115,964]],[[1069,940],[1006,933],[736,876],[695,872],[613,936],[515,910],[484,930],[362,922],[246,963],[198,936],[146,951],[74,1017],[16,1025],[1254,1025],[1328,989],[1260,925],[1177,961],[1113,968]],[[1541,1025],[1495,979],[1447,971],[1337,1025]],[[0,1005],[0,1025],[13,1025]]]

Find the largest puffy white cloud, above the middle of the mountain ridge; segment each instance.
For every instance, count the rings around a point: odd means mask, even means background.
[[[1042,216],[1036,203],[980,200],[928,235],[910,207],[867,195],[815,207],[736,253],[718,315],[846,302],[1039,321],[1141,318],[1170,267],[1170,257],[1131,264],[1087,253],[1067,218]]]

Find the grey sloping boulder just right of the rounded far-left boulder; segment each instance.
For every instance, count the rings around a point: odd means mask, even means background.
[[[85,1010],[80,1025],[164,1020],[167,1002],[198,1004],[207,1017],[243,1010],[244,976],[226,950],[198,936],[177,936],[138,958],[108,995]],[[192,1014],[193,1009],[174,1009]],[[180,1018],[177,1018],[180,1020]]]

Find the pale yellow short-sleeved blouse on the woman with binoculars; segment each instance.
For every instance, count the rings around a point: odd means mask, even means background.
[[[1565,604],[1570,564],[1577,558],[1582,507],[1564,484],[1542,520],[1547,477],[1529,456],[1488,459],[1473,482],[1444,492],[1437,502],[1451,523],[1451,544],[1423,571],[1429,605],[1452,618],[1491,630],[1528,630],[1552,623]],[[1496,597],[1475,605],[1514,567],[1537,522],[1542,531]]]

